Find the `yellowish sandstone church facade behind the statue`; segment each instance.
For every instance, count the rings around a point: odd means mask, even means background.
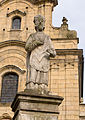
[[[52,26],[57,0],[0,0],[0,120],[12,120],[11,103],[26,84],[28,36],[35,32],[33,19],[45,16],[45,33],[56,49],[50,58],[49,91],[64,98],[59,120],[84,120],[83,50],[78,49],[77,32],[69,30],[63,17],[61,27]]]

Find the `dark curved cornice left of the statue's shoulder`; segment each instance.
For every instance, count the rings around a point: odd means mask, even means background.
[[[25,43],[20,40],[7,40],[4,42],[0,42],[0,48],[7,47],[7,46],[20,46],[20,47],[25,47]]]

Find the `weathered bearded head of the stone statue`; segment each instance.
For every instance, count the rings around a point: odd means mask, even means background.
[[[34,17],[34,24],[36,31],[43,31],[45,29],[45,18],[41,15]]]

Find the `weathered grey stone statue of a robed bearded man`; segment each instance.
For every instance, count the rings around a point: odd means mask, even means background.
[[[27,64],[29,79],[27,78],[26,89],[47,90],[48,71],[50,67],[49,58],[56,56],[56,51],[51,39],[43,31],[45,29],[45,18],[41,15],[34,17],[35,33],[32,33],[25,45],[27,51]]]

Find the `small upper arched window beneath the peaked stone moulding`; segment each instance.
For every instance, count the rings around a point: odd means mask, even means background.
[[[21,29],[21,18],[16,16],[12,20],[12,29]]]

